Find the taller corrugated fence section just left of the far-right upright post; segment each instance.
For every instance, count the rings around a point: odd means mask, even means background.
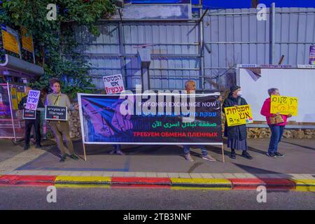
[[[204,51],[206,88],[216,88],[218,76],[221,85],[233,81],[235,64],[269,64],[269,20],[258,21],[254,8],[210,10],[204,19]],[[267,9],[269,13],[269,9]],[[209,84],[212,80],[212,85]]]

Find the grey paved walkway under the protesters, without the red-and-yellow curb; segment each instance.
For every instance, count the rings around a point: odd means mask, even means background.
[[[181,146],[123,146],[126,155],[109,155],[111,146],[86,146],[86,162],[67,159],[59,163],[56,146],[23,151],[22,146],[1,140],[0,175],[314,179],[315,140],[284,139],[279,151],[286,156],[275,159],[265,155],[268,143],[269,139],[248,140],[253,160],[240,156],[231,160],[225,145],[225,163],[221,162],[221,148],[215,146],[208,149],[217,162],[202,160],[198,148],[192,150],[195,162],[186,162]],[[83,158],[82,143],[74,141],[74,146]]]

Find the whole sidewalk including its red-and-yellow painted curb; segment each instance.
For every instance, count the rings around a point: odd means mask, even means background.
[[[76,153],[83,158],[82,143],[74,141],[73,144]],[[158,186],[239,190],[264,185],[269,189],[296,190],[305,187],[304,190],[314,190],[315,141],[284,139],[279,151],[286,156],[275,159],[265,155],[268,144],[269,139],[248,139],[248,152],[253,160],[240,156],[237,156],[237,160],[231,160],[225,145],[225,163],[221,162],[221,148],[215,146],[207,148],[217,162],[202,160],[198,148],[192,150],[195,162],[186,162],[181,146],[123,146],[126,153],[123,156],[109,155],[111,146],[86,146],[86,162],[67,159],[59,163],[56,146],[23,151],[21,146],[1,140],[0,175],[3,176],[0,176],[0,185],[48,181],[49,184],[62,184],[64,187],[79,183],[85,187]],[[41,176],[48,178],[46,182],[45,178],[41,180]]]

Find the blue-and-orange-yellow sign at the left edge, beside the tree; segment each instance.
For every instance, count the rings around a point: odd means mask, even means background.
[[[10,27],[1,25],[1,34],[2,34],[3,48],[6,50],[15,52],[16,54],[20,54],[19,43],[18,43],[18,32],[15,31],[14,29],[10,29]]]

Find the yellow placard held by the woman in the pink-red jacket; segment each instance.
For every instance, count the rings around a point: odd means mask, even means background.
[[[297,116],[297,97],[274,96],[271,97],[270,113]]]

